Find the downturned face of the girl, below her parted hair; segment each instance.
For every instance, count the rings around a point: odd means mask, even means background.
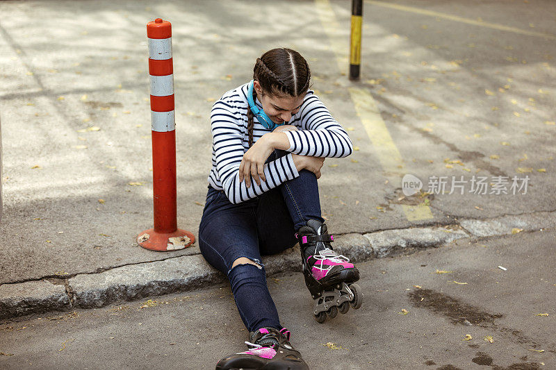
[[[253,87],[266,115],[276,124],[290,121],[291,116],[299,112],[306,94],[306,92],[300,96],[266,94],[259,81],[254,81]]]

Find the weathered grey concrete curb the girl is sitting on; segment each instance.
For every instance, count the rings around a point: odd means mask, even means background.
[[[439,247],[458,239],[511,235],[521,231],[556,228],[556,212],[466,219],[459,224],[350,233],[335,238],[334,249],[352,262],[407,254]],[[263,256],[267,276],[301,271],[299,246],[278,255]],[[183,255],[156,262],[116,267],[99,274],[78,274],[65,280],[35,280],[0,285],[0,319],[74,308],[100,308],[147,296],[187,292],[222,283],[226,276],[206,263],[202,255]],[[60,281],[62,281],[60,283]]]

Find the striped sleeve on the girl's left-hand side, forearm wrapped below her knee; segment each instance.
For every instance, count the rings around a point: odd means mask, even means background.
[[[236,102],[237,103],[237,102]],[[211,132],[213,136],[213,168],[214,177],[227,195],[231,203],[240,203],[255,198],[287,180],[293,180],[300,174],[295,168],[291,153],[264,165],[266,181],[261,179],[261,185],[251,180],[250,187],[245,185],[245,179],[239,180],[239,165],[243,154],[247,151],[244,145],[246,126],[241,113],[234,109],[234,101],[217,101],[211,110]],[[213,187],[219,188],[215,179],[209,176]]]

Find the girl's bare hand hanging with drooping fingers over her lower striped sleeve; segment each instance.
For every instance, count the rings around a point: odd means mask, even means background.
[[[270,153],[274,151],[274,147],[268,137],[265,138],[265,136],[263,135],[243,154],[243,159],[239,165],[239,181],[241,182],[245,178],[247,187],[251,185],[251,176],[259,186],[261,186],[261,179],[266,181],[265,162]]]

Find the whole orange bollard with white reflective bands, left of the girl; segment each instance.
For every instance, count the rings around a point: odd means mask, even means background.
[[[151,85],[152,176],[154,228],[137,242],[152,251],[176,251],[195,242],[195,236],[177,228],[176,131],[172,24],[160,18],[147,23]]]

